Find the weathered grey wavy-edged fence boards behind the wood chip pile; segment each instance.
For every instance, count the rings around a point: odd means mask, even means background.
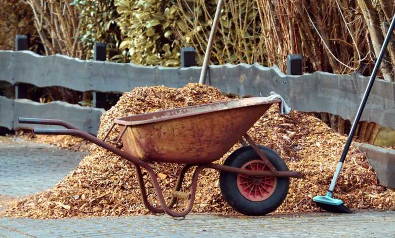
[[[39,56],[29,51],[0,51],[0,81],[12,85],[29,83],[37,87],[62,86],[77,91],[128,92],[135,87],[153,85],[182,87],[189,82],[198,82],[200,69],[84,61],[62,55]],[[270,91],[275,91],[281,94],[293,109],[329,112],[345,119],[352,119],[368,79],[358,75],[325,72],[292,76],[282,73],[277,67],[226,64],[210,66],[207,82],[223,92],[241,96],[266,96]],[[16,116],[39,115],[61,118],[70,123],[76,122],[76,126],[90,128],[90,132],[95,133],[97,125],[93,124],[98,123],[98,116],[103,112],[100,109],[70,106],[59,102],[52,105],[36,105],[31,101],[24,103],[23,109],[20,109],[20,103],[13,101],[11,112],[11,109],[5,109],[10,108],[7,99],[0,98],[0,126],[15,129],[19,127],[15,121]],[[54,109],[49,109],[50,105]],[[38,113],[37,107],[48,108]],[[65,110],[62,108],[66,107],[69,110],[64,113],[54,111],[62,111]],[[13,115],[12,120],[10,114]],[[393,118],[395,84],[378,80],[373,87],[362,120],[395,129]]]

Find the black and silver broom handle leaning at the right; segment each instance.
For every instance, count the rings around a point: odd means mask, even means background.
[[[342,167],[342,165],[343,165],[343,163],[345,161],[345,158],[347,156],[348,149],[350,148],[351,141],[352,141],[352,138],[353,138],[354,133],[355,133],[355,129],[357,129],[357,125],[358,125],[358,123],[359,123],[359,121],[361,119],[362,112],[364,111],[364,108],[365,108],[365,105],[366,105],[366,101],[368,100],[370,91],[372,90],[373,83],[374,83],[374,80],[375,80],[376,75],[377,75],[377,71],[380,68],[381,61],[382,61],[382,59],[384,57],[384,54],[385,54],[385,51],[387,49],[388,42],[389,42],[389,39],[391,38],[392,31],[393,31],[394,27],[395,27],[395,16],[392,17],[391,25],[389,26],[387,35],[385,36],[384,43],[383,43],[383,46],[381,47],[379,57],[377,58],[377,61],[376,61],[375,65],[374,65],[372,75],[370,75],[368,87],[365,90],[365,94],[364,94],[364,96],[362,98],[362,102],[360,104],[360,107],[358,108],[357,115],[355,116],[354,122],[352,123],[351,130],[350,130],[350,133],[349,133],[348,138],[347,138],[347,142],[345,143],[345,146],[344,146],[344,149],[343,149],[343,153],[340,156],[339,165],[336,168],[336,172],[335,172],[335,174],[333,176],[333,179],[332,179],[332,182],[331,182],[331,186],[329,187],[329,192],[332,192],[333,189],[335,188],[336,181],[337,181],[337,178],[339,176],[341,167]]]

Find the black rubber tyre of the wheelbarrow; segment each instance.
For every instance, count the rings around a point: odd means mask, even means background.
[[[278,171],[288,171],[284,160],[274,150],[267,146],[259,145],[259,149]],[[242,168],[249,161],[259,159],[259,155],[251,146],[244,146],[235,150],[226,158],[224,165]],[[224,200],[234,210],[248,216],[261,216],[276,210],[285,200],[289,189],[288,177],[277,177],[277,186],[274,192],[261,202],[246,199],[239,191],[237,185],[238,174],[221,171],[219,186]]]

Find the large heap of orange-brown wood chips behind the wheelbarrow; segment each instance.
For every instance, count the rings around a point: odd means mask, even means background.
[[[184,88],[136,88],[124,94],[119,102],[101,117],[98,133],[103,138],[116,117],[185,107],[221,100],[229,100],[218,89],[188,84]],[[119,136],[114,130],[109,140]],[[277,151],[291,170],[299,170],[303,179],[291,179],[289,194],[275,213],[318,211],[311,198],[325,194],[339,160],[346,138],[332,131],[315,117],[292,111],[281,115],[272,106],[249,131],[258,144]],[[217,163],[223,163],[236,144]],[[155,163],[160,183],[167,199],[181,166]],[[335,189],[335,196],[349,208],[393,209],[395,192],[378,185],[377,177],[365,156],[358,149],[350,149]],[[195,213],[234,213],[224,202],[219,189],[219,172],[205,170],[200,178]],[[148,181],[148,176],[144,173]],[[187,176],[190,179],[190,174]],[[187,191],[188,182],[183,184]],[[148,182],[149,200],[157,205],[152,185]],[[182,210],[185,202],[177,205]],[[31,218],[61,218],[104,215],[149,214],[144,207],[133,166],[105,149],[93,146],[90,154],[56,187],[17,201],[4,213],[6,216]]]

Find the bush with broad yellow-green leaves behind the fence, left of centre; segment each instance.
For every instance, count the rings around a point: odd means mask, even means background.
[[[120,14],[115,21],[124,36],[120,44],[123,56],[136,64],[179,65],[180,47],[173,32],[178,17],[174,1],[115,0],[114,3]]]

